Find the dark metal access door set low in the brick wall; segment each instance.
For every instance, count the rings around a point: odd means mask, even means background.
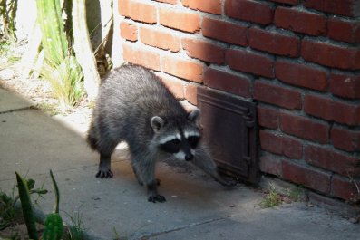
[[[219,170],[257,184],[256,104],[199,88],[198,107],[203,136]]]

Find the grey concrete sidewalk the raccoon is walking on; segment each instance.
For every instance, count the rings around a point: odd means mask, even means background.
[[[360,239],[360,226],[341,216],[306,203],[261,209],[261,194],[255,189],[226,189],[187,166],[160,163],[159,191],[167,202],[149,203],[126,149],[113,155],[114,178],[95,178],[98,155],[86,146],[86,128],[72,129],[30,106],[0,89],[0,188],[11,191],[15,171],[34,178],[38,187],[44,183],[50,192],[39,206],[48,213],[54,205],[48,174],[53,169],[63,217],[79,213],[92,238]]]

